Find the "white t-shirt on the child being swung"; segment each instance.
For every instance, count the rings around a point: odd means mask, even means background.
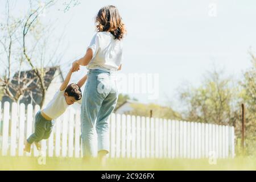
[[[65,100],[64,93],[65,90],[58,90],[46,108],[42,110],[43,113],[52,119],[60,117],[69,106]]]

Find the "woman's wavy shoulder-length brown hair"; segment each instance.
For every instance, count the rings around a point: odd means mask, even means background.
[[[98,32],[109,31],[115,39],[121,40],[126,34],[125,24],[119,15],[117,7],[109,5],[104,6],[98,11],[95,19]]]

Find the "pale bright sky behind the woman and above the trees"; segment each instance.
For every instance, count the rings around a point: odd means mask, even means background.
[[[139,102],[178,105],[177,88],[185,83],[199,85],[213,66],[239,78],[250,67],[249,48],[256,52],[253,0],[81,0],[80,5],[65,13],[59,10],[63,9],[63,2],[47,10],[42,19],[44,23],[55,22],[52,34],[64,34],[60,47],[64,76],[72,61],[84,56],[95,34],[94,17],[98,10],[114,5],[127,27],[120,73],[159,75],[159,97],[150,100],[148,94],[130,94]],[[16,1],[16,5],[19,10],[15,13],[27,8],[23,0]],[[86,72],[82,68],[72,81]]]

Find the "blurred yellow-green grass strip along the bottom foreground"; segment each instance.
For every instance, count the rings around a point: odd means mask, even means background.
[[[217,159],[108,159],[107,166],[98,167],[97,160],[85,163],[77,158],[46,158],[39,165],[35,157],[0,156],[0,170],[256,170],[255,157]]]

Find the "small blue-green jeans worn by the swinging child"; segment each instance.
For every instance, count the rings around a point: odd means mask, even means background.
[[[42,139],[48,139],[52,133],[54,121],[46,120],[40,111],[35,115],[35,132],[28,137],[27,142],[40,142]]]

